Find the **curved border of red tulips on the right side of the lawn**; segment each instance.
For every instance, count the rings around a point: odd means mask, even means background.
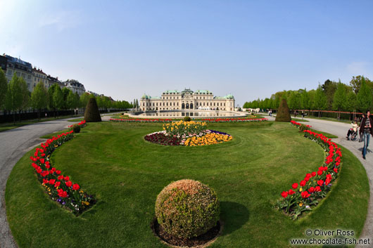
[[[291,121],[291,124],[301,127],[298,122]],[[322,133],[315,133],[308,129],[302,131],[305,138],[310,138],[324,148],[327,157],[317,172],[306,174],[300,183],[293,183],[290,190],[281,193],[282,200],[277,201],[276,207],[293,219],[298,218],[305,211],[311,211],[312,207],[317,206],[320,200],[327,196],[341,169],[342,153],[336,143],[331,142],[331,139]]]

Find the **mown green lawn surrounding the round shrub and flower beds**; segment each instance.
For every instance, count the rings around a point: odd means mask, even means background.
[[[342,148],[343,165],[329,196],[292,221],[273,205],[283,190],[317,171],[324,151],[289,123],[220,123],[210,129],[234,139],[206,147],[169,147],[144,141],[162,124],[89,123],[51,157],[53,166],[96,195],[79,217],[49,200],[30,166],[32,151],[6,185],[6,210],[19,247],[167,247],[150,229],[160,190],[191,178],[210,185],[221,204],[222,236],[210,247],[289,247],[305,230],[354,230],[367,214],[365,169]]]

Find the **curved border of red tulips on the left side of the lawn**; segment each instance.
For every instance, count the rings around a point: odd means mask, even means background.
[[[84,124],[81,122],[81,125],[85,126],[85,122]],[[61,171],[52,167],[49,161],[51,153],[58,146],[73,138],[72,133],[71,130],[48,139],[40,145],[41,148],[35,149],[34,156],[30,156],[30,159],[39,182],[42,183],[51,200],[58,202],[61,207],[69,209],[77,216],[96,203],[94,196],[80,190],[80,185],[72,183],[69,176],[63,176]]]

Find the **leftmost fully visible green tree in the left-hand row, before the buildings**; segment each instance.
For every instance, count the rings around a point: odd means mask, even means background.
[[[20,80],[14,73],[11,81],[8,84],[6,91],[5,108],[13,111],[13,124],[15,124],[15,112],[20,109],[23,104],[23,89],[20,86]]]

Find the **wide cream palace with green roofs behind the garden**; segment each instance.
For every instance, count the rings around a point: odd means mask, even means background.
[[[162,96],[151,97],[146,94],[141,97],[142,111],[157,110],[225,110],[234,111],[234,97],[213,96],[210,91],[165,91]]]

